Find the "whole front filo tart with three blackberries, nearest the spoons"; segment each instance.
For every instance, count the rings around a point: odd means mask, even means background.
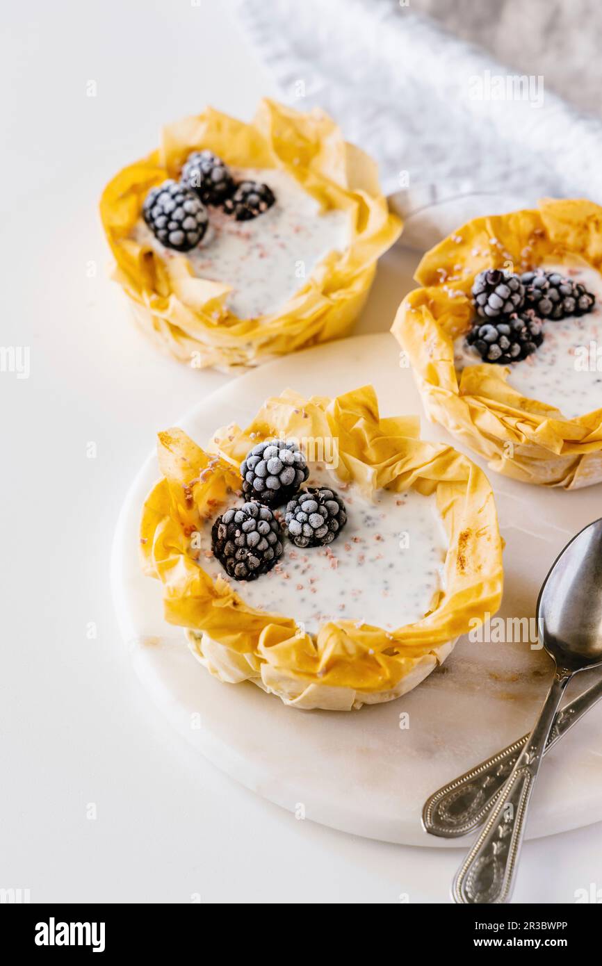
[[[299,708],[405,694],[502,595],[491,487],[414,416],[381,418],[365,386],[287,390],[203,449],[158,436],[144,572],[167,621],[221,681]]]

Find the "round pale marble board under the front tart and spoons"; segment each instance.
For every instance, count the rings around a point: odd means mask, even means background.
[[[246,425],[267,396],[287,387],[307,396],[332,396],[367,383],[374,385],[383,415],[422,413],[412,373],[399,367],[397,343],[379,334],[269,363],[217,390],[179,425],[203,444],[227,422]],[[451,441],[423,415],[422,435]],[[500,614],[532,617],[555,557],[577,530],[600,515],[602,487],[567,493],[489,475],[506,541]],[[302,807],[308,818],[368,838],[465,845],[463,839],[446,842],[422,831],[424,800],[530,730],[552,673],[545,653],[528,641],[462,638],[415,691],[353,712],[299,711],[249,682],[222,684],[195,661],[184,633],[165,623],[159,584],[139,570],[140,509],[157,478],[153,455],[123,507],[112,581],[133,666],[160,713],[199,753],[285,809]],[[582,674],[568,699],[595,673]],[[400,727],[402,712],[409,726]],[[550,835],[600,818],[602,705],[546,756],[528,835]]]

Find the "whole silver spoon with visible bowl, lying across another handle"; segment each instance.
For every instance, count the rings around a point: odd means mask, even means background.
[[[537,600],[539,639],[554,661],[554,680],[539,719],[459,868],[454,902],[507,902],[512,893],[530,795],[566,685],[602,664],[602,520],[581,530],[554,563]]]

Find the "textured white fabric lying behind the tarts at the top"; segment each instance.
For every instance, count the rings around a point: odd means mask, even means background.
[[[328,111],[377,158],[387,194],[402,189],[404,213],[474,190],[602,203],[602,123],[399,0],[241,0],[238,11],[282,99]]]

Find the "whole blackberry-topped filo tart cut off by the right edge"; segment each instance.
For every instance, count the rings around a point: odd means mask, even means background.
[[[392,331],[425,410],[515,479],[602,481],[602,208],[550,200],[432,248]]]

